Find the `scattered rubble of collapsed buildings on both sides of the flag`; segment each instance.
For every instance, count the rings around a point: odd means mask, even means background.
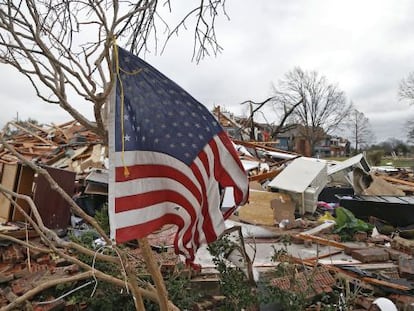
[[[45,168],[82,210],[94,217],[105,206],[108,150],[96,134],[75,121],[43,127],[15,123],[10,126],[17,131],[7,142],[26,159]],[[368,310],[377,297],[389,298],[398,308],[412,308],[412,172],[370,167],[362,154],[337,162],[303,157],[272,148],[271,144],[236,140],[234,143],[249,174],[250,200],[230,216],[229,222],[244,228],[248,243],[283,247],[282,239],[289,236],[290,243],[310,254],[289,254],[289,262],[306,268],[298,270],[295,284],[290,283],[289,276],[282,276],[272,278],[272,286],[286,291],[309,288],[313,290],[311,297],[331,292],[338,278],[344,278],[371,291],[368,298],[361,295],[356,300],[361,310]],[[64,237],[69,231],[88,231],[67,203],[59,199],[59,194],[53,195],[47,181],[4,146],[0,146],[0,172],[1,185],[32,197],[44,224],[59,236]],[[24,200],[17,201],[24,211],[30,212]],[[231,206],[225,196],[223,209]],[[339,226],[340,208],[349,214]],[[345,231],[348,240],[344,238]],[[157,257],[162,271],[173,270],[180,262],[171,252],[174,235],[174,227],[164,227],[149,237],[154,249],[170,250]],[[13,239],[22,243],[13,243]],[[24,246],[28,240],[38,249],[29,251]],[[312,253],[314,246],[329,250]],[[261,268],[273,269],[272,254],[265,249],[268,253],[262,258]],[[132,247],[130,256],[137,266],[142,264],[139,248]],[[0,194],[0,307],[42,282],[62,281],[81,271],[79,266],[55,257],[25,222],[24,215]],[[201,266],[201,275],[218,278],[215,273]],[[197,277],[202,283],[203,277]],[[197,282],[196,278],[193,281]],[[222,300],[219,295],[215,297]],[[65,306],[64,299],[54,301],[55,298],[48,298],[53,303],[48,304],[47,310]],[[41,302],[27,304],[34,310],[46,310]]]

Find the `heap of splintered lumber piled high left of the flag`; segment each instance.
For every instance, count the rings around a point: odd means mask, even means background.
[[[107,148],[101,138],[77,121],[38,126],[9,122],[7,143],[27,160],[82,174],[104,168]],[[0,163],[14,164],[18,158],[0,145]]]

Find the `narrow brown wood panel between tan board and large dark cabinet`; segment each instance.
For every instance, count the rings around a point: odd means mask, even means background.
[[[19,178],[17,181],[16,192],[31,196],[33,188],[34,171],[28,166],[21,166],[19,170]],[[17,204],[30,215],[30,205],[26,200],[17,199]],[[13,221],[23,221],[25,217],[20,211],[15,208],[13,211]]]

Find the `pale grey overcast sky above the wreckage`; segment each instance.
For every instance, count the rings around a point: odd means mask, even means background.
[[[145,59],[208,108],[236,114],[246,114],[241,102],[271,96],[272,83],[295,66],[316,70],[369,118],[377,141],[405,140],[414,106],[400,102],[397,92],[414,71],[414,1],[227,0],[226,8],[230,20],[221,16],[216,26],[221,54],[192,62],[193,34],[181,33],[163,54]],[[17,114],[47,123],[70,120],[37,99],[12,68],[0,68],[0,125]]]

